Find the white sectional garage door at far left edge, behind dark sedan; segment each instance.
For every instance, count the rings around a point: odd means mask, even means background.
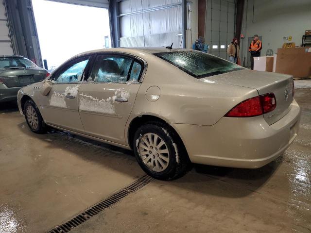
[[[14,54],[8,25],[5,5],[3,0],[0,0],[0,55]]]

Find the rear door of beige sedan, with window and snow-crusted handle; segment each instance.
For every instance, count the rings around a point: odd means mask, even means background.
[[[96,56],[87,82],[79,89],[79,112],[87,134],[125,145],[125,125],[143,68],[144,63],[134,56]]]

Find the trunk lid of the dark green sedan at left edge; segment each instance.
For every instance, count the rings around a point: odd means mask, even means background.
[[[7,87],[27,86],[45,79],[46,70],[38,69],[4,69],[0,70],[0,79]]]

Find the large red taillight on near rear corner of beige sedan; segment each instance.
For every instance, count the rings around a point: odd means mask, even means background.
[[[259,116],[271,112],[276,108],[276,97],[273,93],[253,97],[244,100],[232,108],[225,116],[228,117],[250,117]]]

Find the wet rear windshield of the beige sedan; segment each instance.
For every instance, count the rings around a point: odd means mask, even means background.
[[[245,69],[216,56],[195,50],[160,52],[154,55],[198,79]]]

